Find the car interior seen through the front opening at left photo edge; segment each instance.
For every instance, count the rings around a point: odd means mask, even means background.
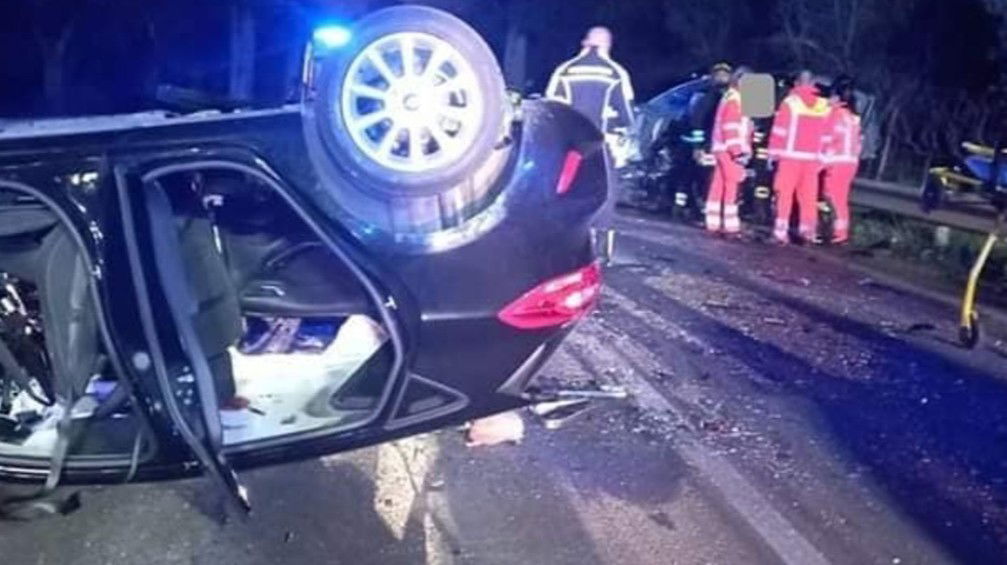
[[[90,272],[41,201],[0,191],[0,455],[47,456],[69,399],[100,403],[80,451],[130,452],[142,440],[100,338]]]

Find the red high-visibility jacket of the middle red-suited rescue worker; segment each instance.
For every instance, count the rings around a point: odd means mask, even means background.
[[[829,101],[813,87],[798,87],[776,110],[769,136],[769,156],[774,159],[823,161],[827,139]]]

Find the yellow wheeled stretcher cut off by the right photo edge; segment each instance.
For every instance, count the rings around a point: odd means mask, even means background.
[[[928,182],[923,189],[924,207],[936,207],[944,192],[976,191],[989,198],[990,204],[997,210],[997,219],[993,229],[986,236],[986,241],[976,257],[969,280],[962,296],[961,321],[959,339],[966,347],[973,348],[979,343],[981,336],[979,326],[979,309],[976,306],[976,295],[979,280],[989,261],[990,254],[997,242],[1003,237],[1005,215],[1007,215],[1007,150],[988,147],[977,143],[964,143],[962,147],[970,154],[966,165],[973,175],[966,174],[949,167],[936,167],[929,170],[930,178],[937,184]]]

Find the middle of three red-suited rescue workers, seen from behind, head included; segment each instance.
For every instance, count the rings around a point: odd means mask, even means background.
[[[823,168],[831,108],[820,97],[810,70],[802,70],[780,103],[769,133],[769,166],[775,167],[776,222],[773,239],[789,243],[790,213],[797,199],[799,233],[805,242],[818,239],[819,175]]]

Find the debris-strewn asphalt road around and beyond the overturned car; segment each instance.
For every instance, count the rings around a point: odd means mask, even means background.
[[[622,219],[598,311],[543,377],[618,384],[517,446],[447,430],[0,524],[20,563],[1003,563],[1007,345],[833,257]]]

